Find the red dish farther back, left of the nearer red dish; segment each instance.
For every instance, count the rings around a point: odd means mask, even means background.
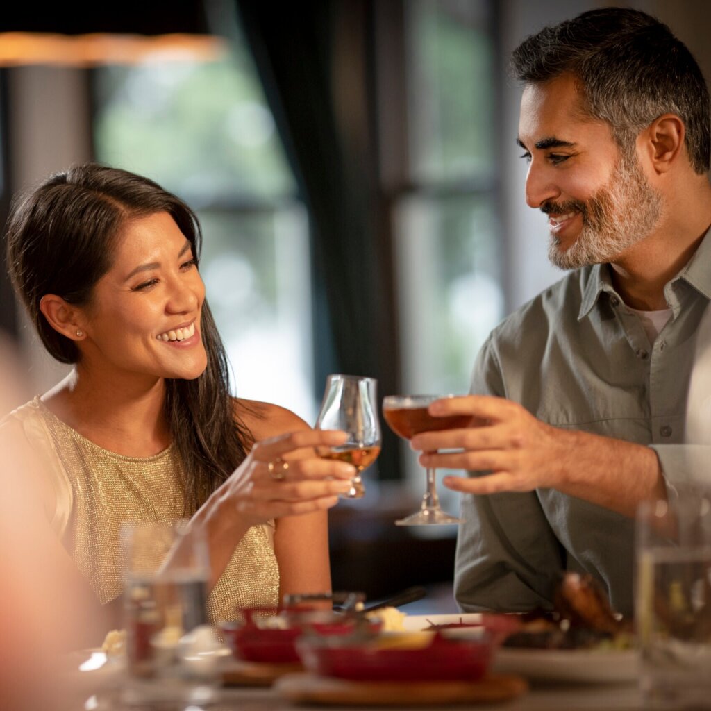
[[[232,654],[252,662],[299,663],[296,640],[305,631],[319,637],[346,636],[356,628],[352,617],[329,610],[286,610],[279,615],[274,610],[242,610],[242,613],[244,622],[223,622],[221,628]],[[377,634],[381,626],[380,621],[371,621],[366,631]]]

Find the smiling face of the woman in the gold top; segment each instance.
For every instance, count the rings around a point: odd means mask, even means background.
[[[168,213],[129,221],[84,312],[82,366],[114,376],[197,378],[205,285],[191,243]]]

